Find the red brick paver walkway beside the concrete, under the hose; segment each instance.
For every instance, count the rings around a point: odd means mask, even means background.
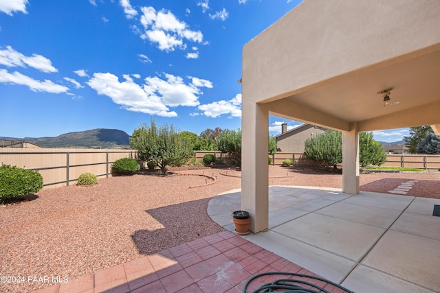
[[[225,231],[36,292],[237,293],[243,292],[245,283],[252,276],[262,272],[298,272],[316,276],[243,237]],[[260,277],[252,281],[248,292],[282,277]],[[305,281],[323,285],[314,279]],[[343,292],[329,284],[325,289]]]

